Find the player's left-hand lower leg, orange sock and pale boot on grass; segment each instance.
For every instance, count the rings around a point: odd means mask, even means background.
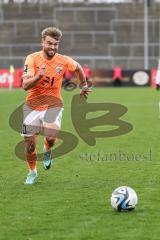
[[[25,137],[25,156],[28,163],[29,173],[25,184],[33,184],[38,176],[37,174],[37,152],[36,152],[36,136]]]

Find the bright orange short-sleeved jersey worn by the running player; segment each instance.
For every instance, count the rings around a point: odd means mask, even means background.
[[[64,72],[75,71],[77,62],[68,56],[56,53],[51,60],[43,56],[43,52],[35,52],[27,56],[24,76],[34,77],[39,68],[46,66],[45,75],[37,84],[28,90],[27,104],[35,110],[46,110],[50,107],[62,107],[61,86]]]

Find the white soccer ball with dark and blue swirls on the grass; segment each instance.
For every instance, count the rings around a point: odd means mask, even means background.
[[[121,211],[132,211],[138,203],[136,192],[127,186],[116,188],[111,196],[113,209]]]

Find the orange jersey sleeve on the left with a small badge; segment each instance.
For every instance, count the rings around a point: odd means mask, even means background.
[[[34,74],[35,74],[34,59],[29,55],[25,60],[23,76],[34,76]]]

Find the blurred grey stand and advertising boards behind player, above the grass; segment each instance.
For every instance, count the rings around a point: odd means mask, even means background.
[[[159,12],[160,0],[0,0],[0,87],[20,86],[48,26],[63,31],[59,52],[87,65],[95,86],[154,86]]]

